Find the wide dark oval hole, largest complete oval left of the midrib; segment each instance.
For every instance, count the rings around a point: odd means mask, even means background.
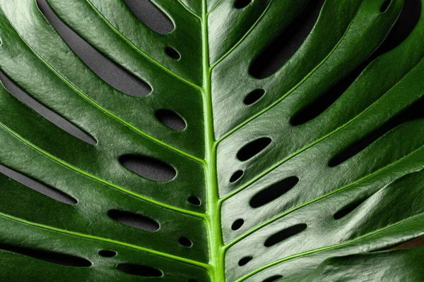
[[[129,154],[120,157],[119,161],[130,171],[150,180],[169,181],[177,175],[172,166],[158,159]]]

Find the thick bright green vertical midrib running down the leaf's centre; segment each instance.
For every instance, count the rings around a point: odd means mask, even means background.
[[[209,63],[208,44],[208,11],[207,0],[203,0],[201,15],[201,33],[203,50],[203,90],[204,90],[204,121],[206,144],[206,195],[207,195],[207,226],[209,242],[209,258],[211,278],[214,282],[225,281],[223,259],[223,238],[220,228],[220,201],[216,172],[216,140],[213,133],[213,112],[211,93],[211,66]]]

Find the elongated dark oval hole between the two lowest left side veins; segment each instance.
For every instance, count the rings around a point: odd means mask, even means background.
[[[131,226],[143,231],[157,231],[159,229],[159,223],[147,216],[141,216],[140,214],[134,214],[132,212],[122,212],[117,209],[112,209],[107,212],[107,215],[111,219],[118,221],[119,223]]]

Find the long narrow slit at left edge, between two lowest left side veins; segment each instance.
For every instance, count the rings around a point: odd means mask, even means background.
[[[28,176],[24,176],[22,173],[18,173],[17,171],[13,171],[10,168],[7,168],[6,166],[2,166],[0,164],[0,173],[3,173],[5,176],[12,178],[13,180],[17,181],[20,184],[25,185],[28,188],[31,188],[37,192],[40,192],[43,195],[46,195],[47,197],[51,197],[54,200],[57,200],[59,202],[63,202],[64,204],[76,204],[77,200],[75,200],[73,197],[65,194],[64,192],[61,192],[57,189],[54,189],[50,186],[47,186],[45,184],[42,184],[36,180],[33,180],[33,178],[29,178]]]

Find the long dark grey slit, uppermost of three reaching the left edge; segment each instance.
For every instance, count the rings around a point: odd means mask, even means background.
[[[61,130],[66,131],[67,133],[77,137],[79,140],[86,142],[91,145],[96,145],[97,141],[88,133],[81,130],[80,128],[70,123],[65,118],[59,116],[54,111],[50,110],[46,106],[37,102],[33,97],[24,92],[18,85],[15,84],[10,78],[8,78],[3,72],[0,71],[0,80],[3,83],[4,87],[10,92],[14,97],[18,98],[20,102],[23,102],[31,109],[36,111],[40,116],[47,119],[47,121],[53,123]]]

